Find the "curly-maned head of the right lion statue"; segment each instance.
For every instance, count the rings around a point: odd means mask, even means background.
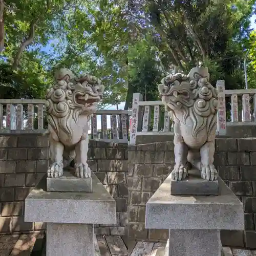
[[[193,136],[205,127],[210,134],[216,126],[218,109],[218,92],[208,82],[207,76],[199,73],[183,75],[177,73],[162,79],[158,90],[165,108],[179,120],[177,112],[182,112],[182,123],[188,116],[193,120]]]

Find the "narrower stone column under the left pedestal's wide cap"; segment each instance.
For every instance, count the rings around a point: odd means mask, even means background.
[[[93,225],[47,223],[46,256],[95,256]]]

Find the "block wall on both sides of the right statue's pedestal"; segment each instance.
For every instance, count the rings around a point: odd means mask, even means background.
[[[145,229],[145,204],[174,166],[173,142],[129,146],[129,237],[165,241],[167,230]],[[225,246],[256,248],[256,138],[216,139],[220,177],[244,204],[245,230],[222,230]]]

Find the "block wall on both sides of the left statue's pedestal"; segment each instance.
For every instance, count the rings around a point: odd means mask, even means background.
[[[127,144],[89,142],[89,165],[116,200],[117,225],[97,226],[98,234],[125,233],[127,226]],[[24,200],[44,177],[49,163],[47,133],[0,136],[0,234],[42,231],[24,222]]]

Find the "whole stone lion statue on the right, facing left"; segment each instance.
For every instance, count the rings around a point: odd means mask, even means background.
[[[213,164],[217,130],[218,92],[208,82],[207,68],[193,68],[162,79],[158,90],[174,120],[175,167],[173,180],[185,179],[188,170],[201,170],[205,180],[216,180]]]

